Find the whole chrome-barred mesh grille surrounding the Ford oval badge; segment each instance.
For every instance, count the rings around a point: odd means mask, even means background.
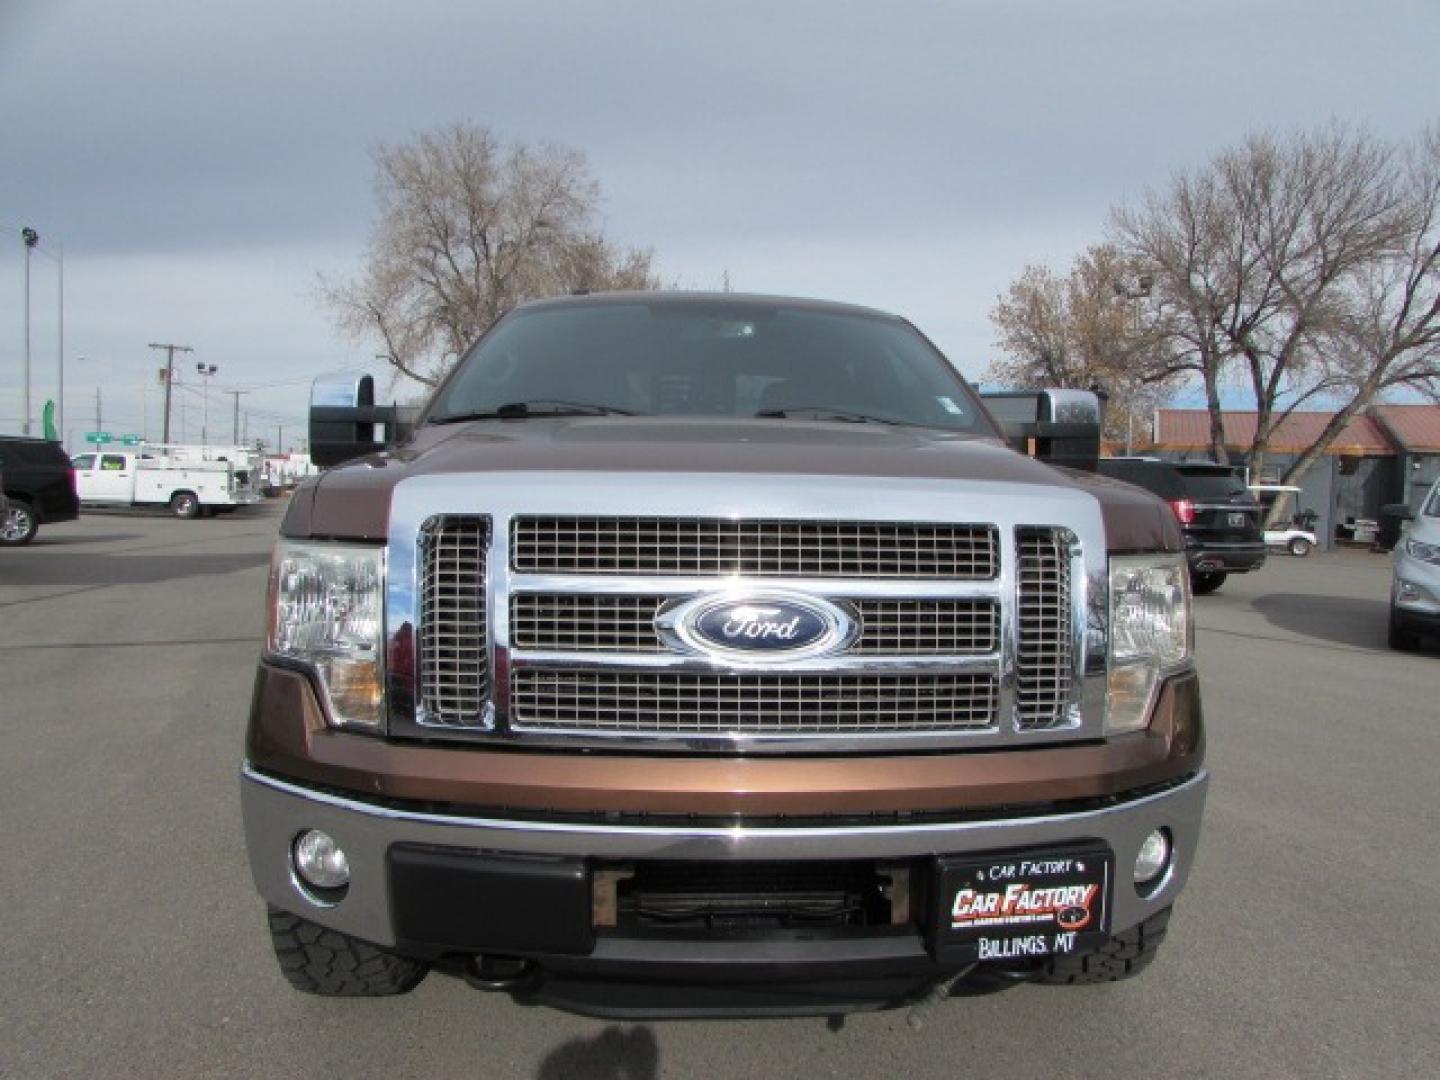
[[[834,752],[1089,730],[1064,528],[503,513],[492,536],[485,516],[420,520],[416,734]],[[508,569],[487,580],[487,564]],[[711,585],[721,572],[737,580]],[[763,590],[755,579],[824,598],[858,632],[772,667],[657,631],[675,605]]]

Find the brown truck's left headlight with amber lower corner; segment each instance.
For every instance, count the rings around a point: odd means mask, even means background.
[[[344,727],[384,726],[383,596],[383,549],[291,540],[275,549],[265,648],[308,664]]]

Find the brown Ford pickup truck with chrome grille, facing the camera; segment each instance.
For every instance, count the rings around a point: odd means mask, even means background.
[[[242,801],[295,986],[832,1014],[1155,956],[1207,786],[1179,530],[1012,448],[1093,467],[1093,395],[989,408],[865,308],[608,294],[406,426],[317,382],[350,459],[274,559]]]

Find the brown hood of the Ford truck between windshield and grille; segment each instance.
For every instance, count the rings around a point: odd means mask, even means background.
[[[1077,487],[1100,503],[1110,550],[1179,550],[1153,495],[1056,469],[996,439],[923,428],[796,419],[615,418],[477,420],[420,428],[384,454],[302,485],[285,536],[382,540],[390,492],[410,477],[484,472],[730,474],[994,481]]]

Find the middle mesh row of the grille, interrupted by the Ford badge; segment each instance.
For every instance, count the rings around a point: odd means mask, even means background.
[[[514,593],[510,641],[537,652],[660,652],[655,615],[670,598],[590,593]],[[972,657],[994,652],[999,605],[978,600],[847,602],[860,636],[847,651],[873,657]]]

